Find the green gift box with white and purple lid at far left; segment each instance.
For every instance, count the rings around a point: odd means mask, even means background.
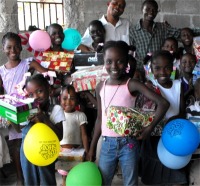
[[[0,96],[0,116],[19,124],[28,120],[28,117],[38,112],[33,99],[18,99],[10,95]]]

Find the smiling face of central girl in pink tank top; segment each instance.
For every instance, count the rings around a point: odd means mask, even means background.
[[[126,70],[127,57],[119,48],[108,48],[104,54],[104,65],[111,79],[120,78]]]

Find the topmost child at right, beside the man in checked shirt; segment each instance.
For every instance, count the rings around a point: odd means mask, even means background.
[[[180,41],[183,44],[183,47],[180,47],[179,50],[182,54],[185,53],[195,54],[193,48],[193,37],[194,33],[192,29],[187,27],[181,29]]]

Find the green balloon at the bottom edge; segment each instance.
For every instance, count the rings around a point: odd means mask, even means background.
[[[66,178],[67,186],[101,186],[102,179],[95,163],[83,162],[73,167]]]

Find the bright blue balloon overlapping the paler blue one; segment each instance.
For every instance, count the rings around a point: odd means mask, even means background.
[[[199,132],[192,122],[186,119],[175,119],[164,127],[162,142],[170,153],[186,156],[197,149]]]

